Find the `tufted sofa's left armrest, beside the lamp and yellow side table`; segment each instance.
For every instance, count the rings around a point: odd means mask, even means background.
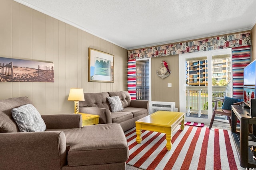
[[[109,109],[100,107],[79,107],[79,112],[99,115],[99,124],[112,123],[111,112]]]

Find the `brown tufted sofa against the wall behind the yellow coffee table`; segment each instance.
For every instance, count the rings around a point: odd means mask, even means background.
[[[107,97],[118,96],[123,110],[111,112]],[[79,112],[99,115],[99,124],[118,123],[123,131],[135,127],[135,121],[149,113],[147,100],[131,100],[127,91],[84,93],[84,101],[79,102]]]

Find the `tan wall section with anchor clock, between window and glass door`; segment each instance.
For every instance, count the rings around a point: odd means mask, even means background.
[[[168,63],[168,68],[171,71],[167,78],[160,78],[156,74],[161,62],[165,60]],[[163,56],[151,58],[151,94],[152,101],[160,102],[175,102],[175,107],[180,109],[179,96],[179,55]],[[160,74],[160,73],[159,73]],[[172,87],[167,87],[168,83],[172,83]]]

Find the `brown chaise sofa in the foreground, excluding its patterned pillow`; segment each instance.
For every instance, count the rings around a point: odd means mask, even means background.
[[[27,97],[0,100],[0,169],[126,169],[128,145],[118,124],[82,127],[80,114],[42,115],[46,131],[19,132],[12,108]]]

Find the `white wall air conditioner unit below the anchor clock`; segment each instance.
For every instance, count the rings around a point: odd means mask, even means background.
[[[163,111],[176,111],[175,109],[175,102],[156,102],[152,101],[151,102],[151,113],[155,113],[158,110],[163,110]]]

